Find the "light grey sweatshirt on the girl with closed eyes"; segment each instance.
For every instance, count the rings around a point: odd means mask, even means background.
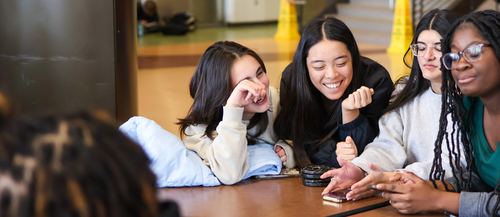
[[[394,92],[401,88],[399,85]],[[370,162],[380,166],[383,171],[392,172],[404,168],[428,180],[434,159],[434,142],[440,115],[441,95],[434,93],[429,87],[401,107],[380,117],[380,133],[373,142],[366,145],[363,153],[351,162],[366,172],[371,172],[368,168]],[[451,122],[449,116],[448,122]],[[451,131],[450,125],[447,130]],[[443,161],[448,162],[448,150],[444,144],[441,157]],[[461,145],[460,150],[463,153]],[[460,162],[465,168],[464,154],[461,154]],[[443,163],[443,168],[445,177],[452,176],[448,163]]]

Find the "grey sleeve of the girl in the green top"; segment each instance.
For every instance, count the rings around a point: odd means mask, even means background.
[[[498,195],[494,192],[460,192],[460,201],[458,204],[458,215],[460,217],[493,216],[493,207]]]

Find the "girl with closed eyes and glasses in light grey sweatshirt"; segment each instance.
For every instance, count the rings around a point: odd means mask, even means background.
[[[378,192],[367,189],[368,184],[390,183],[389,178],[403,168],[429,178],[433,161],[430,153],[434,149],[441,114],[441,39],[457,18],[449,10],[434,9],[418,22],[413,44],[404,58],[411,72],[395,82],[391,102],[378,121],[380,133],[359,157],[322,176],[334,177],[323,194],[352,185],[353,190],[347,197],[371,196]],[[451,129],[451,125],[448,128]],[[341,151],[348,151],[345,149]],[[447,156],[447,149],[442,150],[442,154]],[[460,165],[464,163],[462,157]],[[445,177],[451,177],[449,163],[443,163],[443,168]]]

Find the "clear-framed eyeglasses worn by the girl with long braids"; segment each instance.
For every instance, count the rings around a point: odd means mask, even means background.
[[[491,46],[491,44],[477,43],[465,47],[465,49],[460,52],[446,53],[441,57],[442,64],[446,69],[455,68],[458,65],[458,61],[460,60],[460,55],[462,55],[463,58],[465,58],[465,60],[467,60],[468,62],[475,62],[481,59],[481,50],[483,46]]]

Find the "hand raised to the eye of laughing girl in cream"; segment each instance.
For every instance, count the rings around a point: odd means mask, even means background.
[[[255,102],[258,99],[264,97],[265,95],[265,85],[263,83],[255,83],[247,79],[234,87],[231,95],[227,99],[225,104],[226,107],[243,107],[250,104],[252,101]]]

